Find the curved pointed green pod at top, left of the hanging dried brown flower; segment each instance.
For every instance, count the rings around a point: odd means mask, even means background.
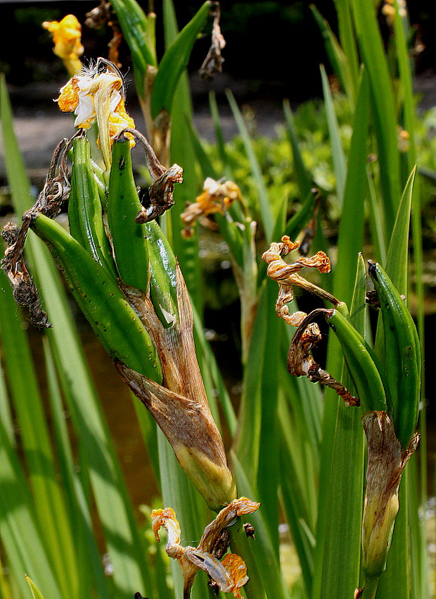
[[[156,118],[162,110],[172,112],[172,101],[181,74],[188,66],[195,39],[203,29],[212,4],[206,1],[188,25],[174,38],[160,61],[151,95],[151,113]]]

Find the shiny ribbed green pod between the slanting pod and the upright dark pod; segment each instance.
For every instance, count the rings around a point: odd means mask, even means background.
[[[115,264],[103,222],[98,185],[92,168],[89,140],[73,142],[72,180],[68,206],[70,233],[94,260],[116,278]]]

